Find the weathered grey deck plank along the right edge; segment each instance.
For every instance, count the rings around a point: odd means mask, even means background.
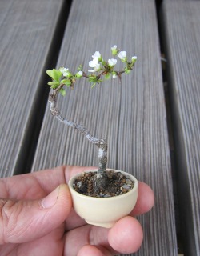
[[[200,2],[164,1],[177,182],[186,255],[200,254]]]

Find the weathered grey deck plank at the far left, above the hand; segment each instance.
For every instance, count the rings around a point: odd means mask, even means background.
[[[62,0],[0,2],[0,176],[27,170]],[[46,91],[47,95],[47,91]],[[45,102],[46,104],[46,102]]]

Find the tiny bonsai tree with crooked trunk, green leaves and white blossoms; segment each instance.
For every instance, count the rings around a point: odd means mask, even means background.
[[[84,126],[63,118],[62,114],[56,107],[56,100],[58,93],[65,96],[66,87],[74,88],[74,84],[80,78],[86,78],[93,88],[97,84],[101,84],[104,80],[118,78],[121,81],[122,74],[130,74],[137,57],[134,56],[128,60],[126,57],[126,51],[120,51],[117,46],[111,47],[111,52],[112,58],[109,58],[106,62],[102,58],[102,54],[100,54],[99,51],[96,51],[94,55],[92,55],[93,59],[89,62],[89,66],[92,69],[88,70],[88,74],[83,70],[82,65],[78,66],[78,70],[75,74],[65,67],[60,67],[58,70],[53,69],[46,71],[52,80],[48,82],[48,85],[50,85],[52,89],[49,95],[51,114],[55,118],[58,118],[60,122],[82,132],[90,142],[98,147],[98,172],[95,178],[95,186],[98,190],[106,187],[107,141],[103,138],[94,137]],[[118,71],[114,69],[118,62],[117,58],[123,64],[122,70]]]

